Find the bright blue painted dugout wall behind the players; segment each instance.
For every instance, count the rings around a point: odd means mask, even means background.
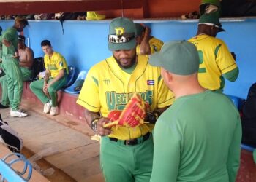
[[[227,32],[219,33],[231,52],[236,52],[236,60],[240,74],[236,82],[226,82],[225,93],[246,98],[249,86],[256,82],[256,18],[222,19],[222,26]],[[135,21],[146,23],[151,27],[152,35],[162,41],[189,39],[195,36],[197,20],[151,20]],[[29,37],[29,45],[36,57],[42,56],[40,42],[49,39],[53,50],[61,52],[69,65],[79,70],[88,69],[95,63],[108,58],[112,53],[108,50],[108,25],[110,21],[65,21],[30,20],[24,34]],[[12,20],[0,20],[3,29],[11,26]]]

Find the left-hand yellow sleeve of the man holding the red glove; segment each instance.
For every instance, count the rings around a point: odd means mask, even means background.
[[[97,75],[98,73],[94,68],[89,70],[77,100],[77,103],[80,106],[83,106],[92,112],[99,112],[101,106],[99,102],[99,85]]]

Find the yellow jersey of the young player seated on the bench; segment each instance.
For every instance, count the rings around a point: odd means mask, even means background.
[[[67,62],[65,58],[58,52],[53,52],[53,55],[50,57],[45,55],[44,57],[45,69],[50,71],[50,77],[55,78],[61,69],[66,69],[66,74],[69,74],[69,69],[67,67]]]

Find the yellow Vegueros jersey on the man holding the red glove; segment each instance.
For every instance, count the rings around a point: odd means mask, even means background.
[[[146,56],[138,56],[132,74],[123,71],[111,56],[89,70],[77,103],[106,117],[111,110],[123,110],[135,92],[148,101],[152,111],[170,106],[174,100],[173,93],[163,82],[160,68],[149,65]],[[113,133],[108,136],[129,140],[145,135],[153,127],[154,124],[142,124],[134,128],[118,126],[113,127]]]

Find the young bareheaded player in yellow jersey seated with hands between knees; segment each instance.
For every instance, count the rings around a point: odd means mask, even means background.
[[[45,77],[31,82],[30,89],[44,103],[43,112],[55,116],[59,114],[57,91],[67,84],[69,70],[65,58],[58,52],[53,51],[50,41],[43,40],[41,47],[45,52]]]

